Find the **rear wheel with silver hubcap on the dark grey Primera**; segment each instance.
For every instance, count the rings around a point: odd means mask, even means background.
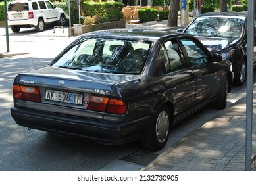
[[[167,106],[162,106],[157,112],[149,131],[141,140],[144,149],[161,150],[165,147],[170,133],[170,112]]]

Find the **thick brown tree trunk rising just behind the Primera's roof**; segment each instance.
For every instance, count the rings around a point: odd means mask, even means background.
[[[178,10],[180,0],[170,0],[170,12],[168,16],[168,24],[170,27],[178,26]]]

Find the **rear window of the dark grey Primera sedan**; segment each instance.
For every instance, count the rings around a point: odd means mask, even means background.
[[[53,66],[115,74],[140,74],[151,43],[86,38],[70,48]]]

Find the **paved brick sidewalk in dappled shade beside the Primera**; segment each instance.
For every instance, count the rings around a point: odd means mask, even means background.
[[[256,87],[254,86],[254,91]],[[253,95],[253,120],[256,118]],[[245,170],[246,97],[195,129],[160,154],[142,170],[243,171]],[[256,122],[253,121],[252,154],[256,154]]]

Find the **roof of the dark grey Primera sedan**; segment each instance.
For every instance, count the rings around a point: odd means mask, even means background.
[[[90,32],[83,34],[83,37],[116,37],[123,39],[147,39],[156,40],[161,37],[176,37],[178,35],[186,35],[183,33],[168,32],[161,30],[151,30],[151,29],[111,29],[111,30],[100,30],[96,32]]]

